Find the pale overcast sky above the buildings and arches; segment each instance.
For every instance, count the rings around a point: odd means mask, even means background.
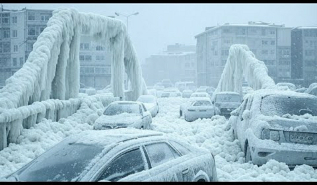
[[[196,44],[195,35],[205,27],[223,23],[263,21],[286,27],[317,26],[317,3],[314,4],[82,4],[82,3],[3,3],[5,9],[50,9],[72,7],[81,12],[129,17],[128,32],[140,62],[166,50],[174,43]],[[126,17],[117,17],[126,23]]]

